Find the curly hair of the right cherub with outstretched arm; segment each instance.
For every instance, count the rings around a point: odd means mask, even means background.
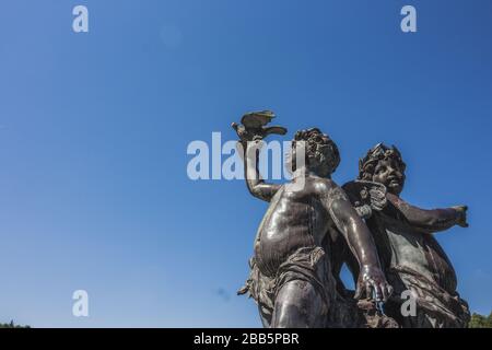
[[[387,147],[384,143],[377,143],[367,154],[359,160],[359,179],[372,180],[377,163],[383,160],[394,160],[397,162],[399,168],[405,172],[407,164],[401,159],[400,151],[395,147]]]

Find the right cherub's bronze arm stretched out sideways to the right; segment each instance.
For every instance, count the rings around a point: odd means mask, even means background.
[[[408,222],[417,230],[424,233],[434,233],[447,230],[455,224],[467,228],[467,207],[453,207],[445,209],[421,209],[407,203],[393,194],[387,194],[387,199],[403,214]]]

